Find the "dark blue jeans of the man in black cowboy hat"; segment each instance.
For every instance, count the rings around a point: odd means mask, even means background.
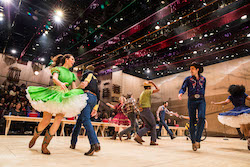
[[[198,123],[196,120],[196,110],[198,110]],[[192,143],[200,142],[205,125],[206,101],[205,99],[190,100],[188,99],[188,113],[190,118],[190,135]],[[197,127],[195,128],[195,124]]]

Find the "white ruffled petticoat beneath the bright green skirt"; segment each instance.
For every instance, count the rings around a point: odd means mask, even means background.
[[[66,98],[61,103],[54,101],[34,101],[30,98],[29,93],[27,93],[26,97],[35,110],[39,112],[46,111],[52,115],[63,113],[65,114],[64,117],[67,118],[75,117],[80,114],[81,111],[86,107],[88,100],[86,93]]]

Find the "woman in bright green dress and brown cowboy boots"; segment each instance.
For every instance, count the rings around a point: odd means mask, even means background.
[[[87,105],[87,94],[84,94],[82,89],[76,87],[76,76],[69,71],[75,63],[72,55],[58,55],[53,58],[51,65],[51,73],[55,86],[38,87],[30,86],[27,88],[27,98],[33,108],[39,112],[43,112],[43,119],[35,128],[34,136],[29,143],[29,148],[32,148],[43,132],[49,125],[52,116],[55,116],[54,123],[49,130],[46,131],[42,143],[42,153],[50,154],[47,149],[52,137],[57,132],[63,117],[74,117],[84,109]],[[68,87],[72,86],[69,90]]]

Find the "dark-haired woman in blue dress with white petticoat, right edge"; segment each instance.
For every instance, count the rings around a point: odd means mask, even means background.
[[[231,85],[228,92],[231,94],[225,101],[211,102],[215,105],[227,105],[233,103],[234,109],[220,113],[218,120],[225,125],[241,128],[244,135],[248,138],[248,150],[250,150],[250,107],[246,106],[245,101],[250,100],[250,96],[245,93],[243,85]]]

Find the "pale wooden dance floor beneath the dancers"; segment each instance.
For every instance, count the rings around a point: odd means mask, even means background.
[[[89,144],[80,137],[75,150],[69,148],[70,137],[54,137],[49,145],[51,155],[42,155],[40,137],[32,149],[28,149],[31,136],[0,136],[0,167],[9,166],[98,166],[98,167],[152,167],[152,166],[250,166],[247,142],[239,139],[223,140],[209,137],[201,143],[197,152],[191,150],[190,141],[184,137],[170,140],[162,137],[159,146],[144,145],[133,140],[120,142],[100,138],[102,150],[94,156],[84,156]]]

